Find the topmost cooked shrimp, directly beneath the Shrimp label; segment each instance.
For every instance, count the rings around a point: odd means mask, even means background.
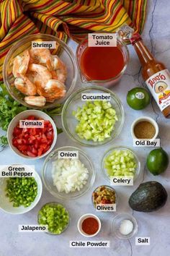
[[[30,50],[30,57],[32,59],[32,62],[37,64],[43,64],[48,67],[48,69],[52,68],[52,56],[48,49],[32,48]]]

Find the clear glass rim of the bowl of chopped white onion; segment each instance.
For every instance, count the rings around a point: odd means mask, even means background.
[[[86,160],[89,162],[89,165],[91,166],[91,173],[92,173],[92,175],[91,175],[91,181],[89,183],[89,187],[87,187],[87,189],[84,190],[84,192],[82,192],[81,194],[76,195],[76,196],[71,196],[71,193],[70,193],[70,196],[69,196],[69,194],[60,195],[59,192],[53,192],[53,190],[51,190],[48,187],[48,183],[46,182],[46,178],[45,178],[45,171],[46,171],[46,168],[48,166],[48,161],[50,161],[50,158],[53,157],[53,155],[56,155],[56,153],[58,153],[58,151],[66,150],[66,149],[67,150],[70,149],[70,150],[79,151],[79,153],[81,155],[83,155],[84,158],[86,158]],[[95,177],[96,177],[96,171],[94,169],[93,162],[92,162],[91,158],[89,157],[89,155],[84,153],[84,151],[81,150],[80,148],[76,148],[76,147],[72,147],[72,146],[64,146],[64,147],[57,148],[57,149],[53,150],[53,152],[51,152],[48,155],[48,157],[45,158],[45,162],[43,163],[43,166],[42,166],[42,181],[45,184],[46,189],[48,189],[48,192],[50,192],[51,195],[53,195],[54,197],[56,197],[58,199],[61,199],[61,200],[74,200],[74,199],[79,198],[79,197],[83,196],[84,194],[86,194],[86,192],[88,192],[89,189],[93,186],[94,181],[95,181]]]

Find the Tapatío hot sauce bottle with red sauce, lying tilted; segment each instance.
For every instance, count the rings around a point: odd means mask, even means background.
[[[163,63],[157,61],[144,45],[138,33],[130,38],[140,63],[142,76],[166,118],[170,118],[170,73]]]

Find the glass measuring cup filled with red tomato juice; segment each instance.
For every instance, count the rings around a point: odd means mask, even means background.
[[[115,85],[124,74],[128,61],[128,47],[118,38],[115,47],[89,47],[86,38],[76,50],[76,63],[84,83]]]

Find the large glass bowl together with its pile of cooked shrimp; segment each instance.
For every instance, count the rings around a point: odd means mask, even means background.
[[[47,41],[53,41],[54,47],[39,47]],[[22,105],[55,108],[66,101],[76,85],[76,61],[71,48],[55,36],[27,35],[6,55],[3,78],[10,95]]]

